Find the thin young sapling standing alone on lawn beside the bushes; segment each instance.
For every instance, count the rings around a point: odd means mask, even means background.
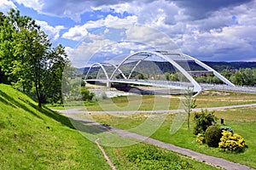
[[[195,101],[196,99],[193,99],[193,89],[187,88],[186,92],[184,94],[184,100],[183,100],[183,105],[184,105],[184,111],[188,114],[188,128],[189,128],[189,117],[190,117],[190,112],[192,109],[196,107]]]

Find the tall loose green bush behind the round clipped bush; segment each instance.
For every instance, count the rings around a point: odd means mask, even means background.
[[[208,113],[207,110],[201,110],[201,112],[196,112],[194,116],[194,131],[193,133],[197,135],[198,133],[205,133],[207,127],[211,126],[216,122],[217,117],[214,116],[214,111]]]

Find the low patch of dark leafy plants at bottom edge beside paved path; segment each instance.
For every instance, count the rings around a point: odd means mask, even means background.
[[[136,163],[140,169],[188,169],[192,167],[188,161],[155,146],[131,150],[126,154],[126,157],[129,161]]]

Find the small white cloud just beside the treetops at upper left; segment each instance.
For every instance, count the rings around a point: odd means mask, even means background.
[[[60,37],[60,31],[65,29],[64,26],[49,26],[44,20],[36,20],[41,29],[49,36],[49,39],[56,41]]]

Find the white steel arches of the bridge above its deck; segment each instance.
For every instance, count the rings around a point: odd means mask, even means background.
[[[141,56],[141,58],[136,59],[136,56]],[[105,77],[106,77],[105,82],[107,82],[108,86],[109,86],[109,84],[111,84],[111,82],[117,82],[117,80],[115,80],[116,77],[114,77],[117,72],[119,72],[119,74],[122,76],[122,78],[127,83],[129,83],[129,81],[131,80],[131,75],[132,75],[133,71],[136,70],[137,66],[140,65],[140,63],[143,60],[148,59],[148,57],[151,57],[151,56],[159,57],[160,59],[164,59],[164,60],[168,61],[172,66],[174,66],[177,69],[177,71],[180,71],[183,74],[183,76],[186,77],[189,80],[189,82],[192,83],[192,85],[194,86],[193,89],[194,89],[195,93],[201,92],[201,90],[202,90],[201,85],[198,82],[195,81],[195,79],[189,74],[188,71],[185,71],[185,69],[177,63],[177,60],[179,60],[179,59],[184,60],[184,61],[192,60],[197,65],[200,65],[202,68],[206,69],[206,71],[212,72],[216,77],[218,77],[220,80],[222,80],[227,85],[235,86],[232,82],[227,80],[225,77],[221,76],[217,71],[213,70],[210,66],[205,65],[204,63],[202,63],[200,60],[195,59],[195,58],[193,58],[193,57],[191,57],[187,54],[181,54],[181,53],[177,54],[177,53],[171,53],[171,52],[168,52],[168,51],[139,51],[139,52],[136,52],[134,54],[128,55],[125,59],[123,59],[119,63],[119,65],[113,65],[111,63],[95,63],[95,64],[91,65],[90,69],[87,71],[87,74],[85,76],[85,80],[88,78],[88,75],[89,75],[92,67],[100,66],[102,68],[102,71],[105,74]],[[177,58],[175,59],[174,56],[177,57]],[[133,63],[133,67],[132,67],[129,75],[125,76],[125,74],[121,71],[121,66],[125,65],[126,61],[129,61],[130,59],[133,59],[133,58],[135,58],[134,59],[135,64]],[[109,67],[109,65],[113,67],[113,71],[110,71],[110,72],[107,71],[106,68]]]

